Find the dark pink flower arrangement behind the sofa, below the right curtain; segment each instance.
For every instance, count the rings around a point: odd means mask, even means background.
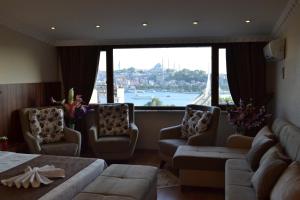
[[[235,126],[238,134],[256,133],[271,117],[265,106],[255,106],[252,100],[248,103],[240,100],[240,105],[227,110],[227,113],[228,121]]]

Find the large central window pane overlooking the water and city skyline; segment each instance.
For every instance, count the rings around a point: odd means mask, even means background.
[[[115,102],[211,104],[211,47],[114,49]]]

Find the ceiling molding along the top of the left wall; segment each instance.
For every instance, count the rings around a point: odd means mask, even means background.
[[[0,25],[11,29],[13,31],[16,31],[18,33],[21,33],[23,35],[29,36],[31,38],[34,38],[36,40],[39,40],[41,42],[47,43],[49,45],[54,45],[55,41],[46,37],[42,33],[39,33],[38,31],[31,31],[28,28],[26,28],[26,25],[16,19],[14,19],[16,23],[11,24],[10,20],[8,20],[7,17],[0,15]],[[9,24],[9,25],[8,25]]]

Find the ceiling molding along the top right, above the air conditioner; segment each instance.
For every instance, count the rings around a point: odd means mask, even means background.
[[[299,0],[289,0],[286,7],[282,11],[282,14],[280,15],[278,21],[276,22],[273,31],[272,36],[278,37],[284,27],[284,25],[287,23],[289,17],[294,13],[295,9],[299,6]]]

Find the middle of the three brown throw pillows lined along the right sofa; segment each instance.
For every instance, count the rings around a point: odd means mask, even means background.
[[[269,199],[271,190],[282,172],[287,168],[283,160],[269,160],[259,166],[251,178],[258,200]]]

